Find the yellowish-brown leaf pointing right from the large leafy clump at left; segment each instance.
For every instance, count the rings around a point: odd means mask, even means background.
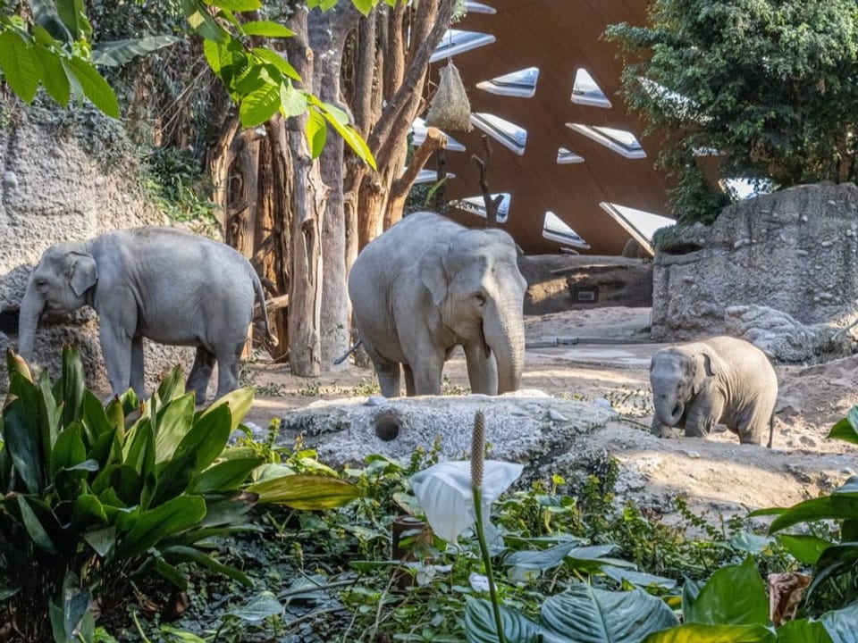
[[[293,475],[249,485],[260,503],[287,505],[293,509],[314,511],[346,505],[360,497],[357,486],[325,476]]]

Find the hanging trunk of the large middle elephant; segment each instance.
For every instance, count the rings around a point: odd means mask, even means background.
[[[525,369],[525,324],[515,299],[488,305],[483,318],[485,343],[498,363],[498,394],[517,390]]]

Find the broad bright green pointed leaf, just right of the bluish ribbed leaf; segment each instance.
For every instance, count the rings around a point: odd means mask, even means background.
[[[686,623],[768,625],[769,598],[753,558],[716,570],[683,615]]]

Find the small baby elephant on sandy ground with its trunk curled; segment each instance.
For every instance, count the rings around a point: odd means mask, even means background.
[[[715,337],[662,348],[652,355],[652,432],[685,429],[705,437],[725,424],[742,444],[761,445],[774,431],[778,378],[769,358],[744,339]]]

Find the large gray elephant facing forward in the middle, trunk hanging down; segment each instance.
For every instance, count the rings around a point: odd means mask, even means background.
[[[441,393],[444,362],[461,346],[471,391],[516,390],[525,361],[526,281],[501,230],[468,230],[412,213],[368,244],[352,266],[357,332],[382,394]]]

